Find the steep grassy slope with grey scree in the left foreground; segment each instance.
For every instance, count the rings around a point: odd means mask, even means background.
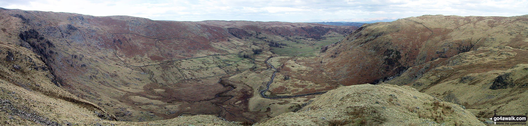
[[[117,119],[100,106],[56,86],[48,66],[32,51],[3,41],[0,41],[0,50],[4,51],[0,56],[13,59],[0,61],[0,104],[3,106],[0,125],[60,125],[64,120]]]

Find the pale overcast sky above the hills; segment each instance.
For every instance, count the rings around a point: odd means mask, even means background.
[[[421,15],[520,16],[528,1],[259,1],[259,0],[0,0],[0,7],[93,16],[127,15],[151,20],[364,22]]]

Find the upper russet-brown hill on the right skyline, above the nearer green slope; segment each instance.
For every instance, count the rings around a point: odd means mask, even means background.
[[[324,54],[328,74],[344,85],[377,83],[409,67],[479,47],[528,49],[528,15],[425,15],[363,25]]]

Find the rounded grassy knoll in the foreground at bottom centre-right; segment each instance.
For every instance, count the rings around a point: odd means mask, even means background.
[[[410,86],[344,86],[313,100],[257,125],[484,125],[460,105]]]

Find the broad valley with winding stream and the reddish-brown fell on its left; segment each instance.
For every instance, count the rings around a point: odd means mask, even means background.
[[[318,57],[323,46],[340,41],[357,28],[285,22],[152,21],[7,9],[2,13],[4,21],[13,25],[22,21],[18,25],[25,29],[17,36],[3,34],[4,41],[22,37],[18,45],[29,45],[27,49],[43,56],[59,86],[114,113],[121,121],[139,122],[199,114],[259,122],[298,110],[314,94],[341,86],[329,77],[307,77],[325,74],[319,70]],[[53,18],[47,18],[50,15]],[[274,60],[277,66],[273,66],[267,62],[273,57],[283,59]],[[319,64],[295,62],[301,59]],[[286,67],[279,65],[286,61],[296,68],[287,66],[284,72],[275,68]],[[298,73],[303,75],[297,77]],[[288,75],[284,80],[288,82],[274,79],[276,74],[281,79]],[[275,94],[277,88],[286,89]]]

